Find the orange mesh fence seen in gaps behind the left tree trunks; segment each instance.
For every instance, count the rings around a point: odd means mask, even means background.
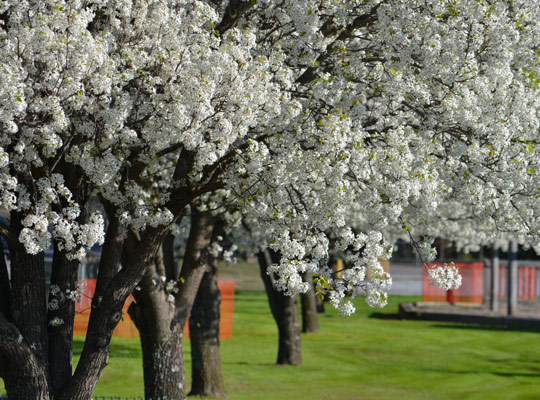
[[[234,310],[234,281],[218,281],[218,289],[221,292],[219,338],[231,339]],[[94,297],[95,290],[96,280],[86,279],[86,290],[81,297],[81,301],[75,303],[75,323],[73,327],[74,335],[86,335],[88,319],[90,317],[90,309],[92,306],[92,298]],[[122,320],[116,326],[113,336],[139,337],[139,331],[127,313],[127,309],[132,301],[133,296],[130,295],[122,309]],[[184,329],[184,337],[189,339],[188,323],[186,323],[186,327]]]

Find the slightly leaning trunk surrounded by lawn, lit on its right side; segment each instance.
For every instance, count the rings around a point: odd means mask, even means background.
[[[269,256],[267,252],[259,252],[257,257],[270,309],[278,326],[277,364],[301,365],[302,345],[296,296],[286,296],[276,290],[272,283],[272,277],[267,273],[270,262],[279,262],[279,255],[271,252]]]

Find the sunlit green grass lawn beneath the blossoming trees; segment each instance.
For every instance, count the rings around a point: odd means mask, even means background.
[[[398,303],[410,300],[393,297],[375,315],[359,301],[352,317],[327,307],[321,333],[302,336],[303,366],[280,367],[265,294],[237,293],[233,339],[222,342],[230,399],[540,398],[538,333],[395,319]],[[143,394],[138,340],[113,339],[95,394]]]

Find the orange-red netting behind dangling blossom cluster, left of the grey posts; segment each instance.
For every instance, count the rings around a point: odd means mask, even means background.
[[[442,266],[431,263],[429,267]],[[461,286],[455,290],[443,290],[431,285],[425,268],[422,270],[422,301],[450,301],[459,303],[482,303],[484,299],[484,263],[455,263],[462,276]]]

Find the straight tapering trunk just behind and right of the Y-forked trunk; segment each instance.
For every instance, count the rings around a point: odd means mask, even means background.
[[[190,396],[227,397],[221,373],[217,262],[211,257],[189,318],[191,337]]]

